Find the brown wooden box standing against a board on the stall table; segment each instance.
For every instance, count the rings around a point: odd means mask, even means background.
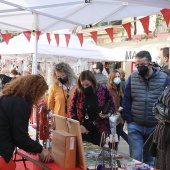
[[[76,167],[76,136],[64,130],[55,130],[52,135],[52,156],[62,168]]]

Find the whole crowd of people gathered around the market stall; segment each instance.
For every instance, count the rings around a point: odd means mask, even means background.
[[[137,71],[127,81],[122,69],[109,72],[108,77],[104,75],[101,62],[93,65],[93,71],[82,71],[78,78],[69,64],[55,64],[48,108],[52,114],[79,121],[83,141],[95,145],[100,145],[103,132],[111,133],[109,117],[119,112],[121,119],[116,132],[119,138],[122,136],[129,144],[130,156],[155,166],[155,158],[142,148],[154,131],[154,142],[158,146],[156,167],[169,170],[168,62],[169,48],[160,50],[157,62],[160,69],[152,66],[152,57],[148,51],[140,51],[135,56]],[[4,165],[15,169],[15,163],[11,159],[15,147],[27,152],[42,153],[48,162],[51,154],[28,137],[31,108],[48,88],[44,78],[29,73],[6,83],[0,98],[0,162],[3,162],[0,169]],[[105,114],[103,108],[108,102],[109,111]],[[123,130],[124,123],[127,123],[128,134]]]

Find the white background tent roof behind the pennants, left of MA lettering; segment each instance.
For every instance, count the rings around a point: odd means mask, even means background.
[[[68,31],[58,31],[57,33],[69,33]],[[3,58],[23,59],[29,54],[34,53],[34,36],[31,36],[30,42],[23,34],[12,38],[8,45],[3,42],[0,44],[0,55]],[[55,37],[51,34],[51,43],[49,45],[46,34],[41,35],[38,41],[38,59],[39,61],[67,61],[75,63],[78,59],[89,59],[91,61],[117,61],[118,58],[112,58],[112,50],[100,47],[91,43],[84,42],[81,47],[78,37],[71,35],[68,47],[64,34],[59,36],[59,46],[57,47]]]

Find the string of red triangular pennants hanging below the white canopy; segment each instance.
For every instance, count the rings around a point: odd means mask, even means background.
[[[160,12],[162,13],[162,16],[163,16],[164,20],[166,21],[166,25],[168,27],[168,25],[170,23],[170,9],[162,9]],[[149,35],[149,19],[150,19],[149,16],[146,16],[144,18],[139,19],[139,21],[141,22],[141,24],[143,26],[143,29],[144,29],[144,31],[145,31],[145,33],[147,35]],[[131,23],[128,22],[126,24],[122,24],[122,26],[126,30],[129,39],[131,39],[132,38],[132,36],[131,36]],[[113,27],[106,28],[105,31],[109,35],[111,41],[113,42],[113,39],[114,39],[114,28]],[[31,31],[24,31],[23,34],[25,35],[27,40],[30,42]],[[39,31],[39,30],[35,31],[35,34],[37,36],[37,41],[38,41],[39,37],[41,35],[41,31]],[[92,32],[90,32],[90,34],[91,34],[91,37],[94,40],[94,42],[97,44],[97,42],[98,42],[98,40],[97,40],[97,36],[98,36],[97,35],[97,31],[92,31]],[[9,43],[11,35],[12,35],[11,33],[1,34],[3,40],[6,42],[6,44]],[[71,34],[64,34],[64,35],[65,35],[66,45],[68,47],[69,40],[71,38]],[[50,33],[46,33],[46,36],[47,36],[48,43],[50,44],[50,42],[51,42],[51,34]],[[59,46],[60,34],[54,34],[54,37],[55,37],[57,46]],[[80,45],[82,46],[83,45],[83,33],[77,33],[77,37],[78,37],[78,39],[80,41]]]

